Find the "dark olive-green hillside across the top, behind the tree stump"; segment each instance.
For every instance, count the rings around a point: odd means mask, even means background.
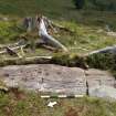
[[[42,13],[53,19],[64,19],[86,24],[116,25],[115,12],[92,9],[77,11],[72,0],[0,0],[0,13],[12,17]]]

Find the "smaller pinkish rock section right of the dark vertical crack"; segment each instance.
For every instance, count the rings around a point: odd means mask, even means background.
[[[89,68],[88,71],[85,71],[85,75],[88,87],[101,85],[115,86],[115,77],[106,71]]]

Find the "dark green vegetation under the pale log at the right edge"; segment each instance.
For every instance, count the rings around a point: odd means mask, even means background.
[[[89,67],[108,70],[116,77],[116,54],[113,53],[99,53],[89,55],[86,59]]]

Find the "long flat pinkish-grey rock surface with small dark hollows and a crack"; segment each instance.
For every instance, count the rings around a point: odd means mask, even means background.
[[[95,85],[115,85],[115,78],[107,72],[54,64],[4,66],[0,67],[0,77],[11,87],[62,94],[85,95]]]

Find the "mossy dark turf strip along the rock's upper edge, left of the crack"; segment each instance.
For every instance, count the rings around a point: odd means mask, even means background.
[[[1,59],[0,60],[0,66],[6,66],[6,65],[27,65],[27,64],[43,64],[43,63],[53,63],[53,64],[59,64],[59,65],[64,65],[64,66],[77,66],[82,68],[87,68],[86,61],[83,56],[78,56],[76,54],[64,54],[64,53],[56,53],[53,55],[51,60],[45,60],[45,59]]]

